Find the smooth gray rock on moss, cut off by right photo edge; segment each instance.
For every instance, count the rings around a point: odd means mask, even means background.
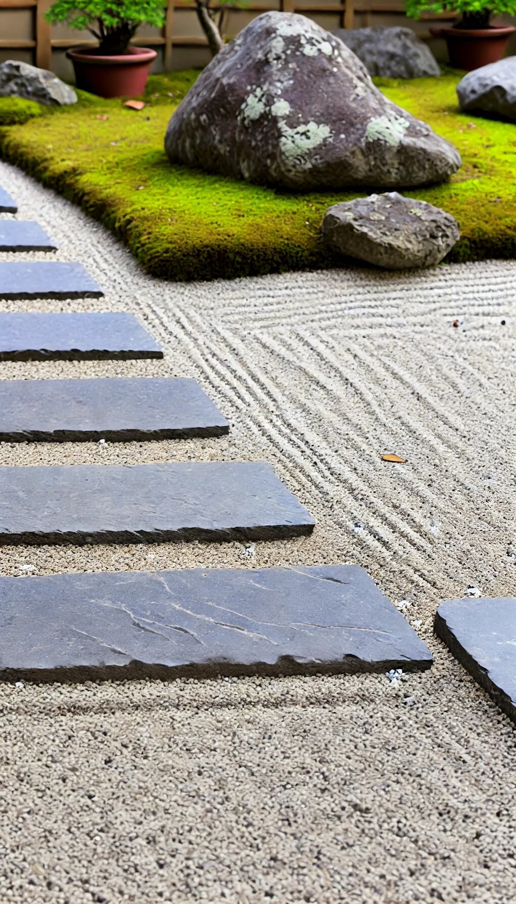
[[[457,97],[464,111],[516,119],[516,56],[468,72],[457,85]]]

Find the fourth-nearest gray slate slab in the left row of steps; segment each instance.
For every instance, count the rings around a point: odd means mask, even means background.
[[[0,314],[0,361],[163,358],[132,314]]]

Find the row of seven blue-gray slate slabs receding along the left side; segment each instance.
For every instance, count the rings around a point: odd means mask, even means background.
[[[3,206],[2,206],[3,205]],[[16,205],[0,189],[0,210]],[[54,250],[0,221],[0,250]],[[0,262],[0,298],[101,297],[78,263]],[[2,314],[0,359],[163,357],[127,314]],[[0,439],[218,436],[193,380],[0,382]],[[264,462],[0,467],[0,545],[230,541],[310,534]],[[406,619],[356,566],[0,578],[0,674],[36,681],[141,673],[427,669]]]

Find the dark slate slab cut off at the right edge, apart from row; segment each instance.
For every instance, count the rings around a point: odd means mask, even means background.
[[[447,599],[436,635],[516,722],[516,599]]]

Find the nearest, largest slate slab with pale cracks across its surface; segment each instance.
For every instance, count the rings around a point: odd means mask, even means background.
[[[0,674],[427,669],[427,646],[356,565],[0,578]]]

